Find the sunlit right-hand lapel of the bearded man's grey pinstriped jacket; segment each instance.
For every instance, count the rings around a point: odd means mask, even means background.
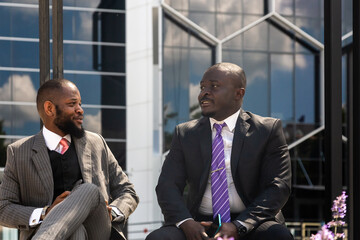
[[[73,138],[84,182],[92,182],[91,149],[86,142],[86,134],[82,138]]]

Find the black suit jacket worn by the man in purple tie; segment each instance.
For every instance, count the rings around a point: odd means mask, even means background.
[[[198,208],[210,173],[211,146],[209,118],[176,127],[156,187],[165,224],[199,216]],[[246,206],[238,220],[254,227],[267,220],[283,221],[281,208],[290,195],[291,166],[279,119],[240,111],[231,152],[231,172],[237,193]]]

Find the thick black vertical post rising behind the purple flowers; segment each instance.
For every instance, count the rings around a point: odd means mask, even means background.
[[[325,217],[342,191],[341,0],[324,1],[325,16]]]

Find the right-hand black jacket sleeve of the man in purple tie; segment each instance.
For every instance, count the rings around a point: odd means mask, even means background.
[[[255,184],[260,191],[237,218],[254,227],[275,220],[291,192],[291,162],[279,119],[271,126],[260,166],[260,179]]]

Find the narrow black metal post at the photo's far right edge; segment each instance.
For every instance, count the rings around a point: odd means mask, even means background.
[[[350,185],[353,238],[360,239],[360,3],[353,0],[353,183]]]

